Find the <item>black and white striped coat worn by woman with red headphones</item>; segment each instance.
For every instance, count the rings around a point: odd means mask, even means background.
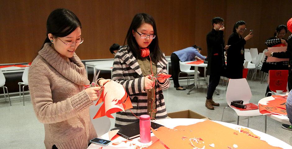
[[[157,72],[161,69],[163,73],[167,73],[167,61],[165,57],[157,62]],[[121,48],[115,55],[115,60],[112,69],[112,80],[122,84],[130,96],[133,108],[131,111],[137,115],[147,114],[147,92],[144,90],[144,76],[141,68],[132,54],[129,52],[128,46]],[[162,90],[169,88],[170,80],[167,79],[164,83],[156,81],[156,119],[167,117],[167,111],[164,103]],[[130,110],[116,113],[116,127],[139,121]]]

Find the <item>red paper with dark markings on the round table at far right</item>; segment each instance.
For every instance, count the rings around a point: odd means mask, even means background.
[[[267,101],[267,105],[258,104],[258,109],[262,115],[276,114],[287,116],[286,101],[287,96],[272,95],[274,100]]]

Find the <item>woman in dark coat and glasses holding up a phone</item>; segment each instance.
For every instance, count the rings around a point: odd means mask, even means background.
[[[230,79],[241,79],[244,63],[244,45],[247,40],[253,37],[250,32],[246,37],[242,38],[242,34],[246,30],[243,20],[235,23],[233,33],[229,36],[227,50],[227,76]]]

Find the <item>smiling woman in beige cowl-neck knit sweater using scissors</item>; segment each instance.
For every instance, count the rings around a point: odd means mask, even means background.
[[[43,48],[29,71],[29,87],[35,114],[45,128],[47,149],[85,149],[97,137],[89,106],[98,99],[100,87],[89,84],[84,64],[75,54],[83,42],[81,23],[67,9],[48,16]],[[109,80],[99,79],[98,84]]]

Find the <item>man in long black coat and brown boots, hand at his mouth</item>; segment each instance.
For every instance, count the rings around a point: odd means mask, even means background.
[[[220,76],[226,68],[224,49],[228,49],[228,46],[225,46],[223,49],[224,20],[220,17],[215,17],[212,19],[212,25],[214,28],[207,34],[206,38],[208,48],[207,75],[210,75],[210,78],[205,106],[210,110],[214,110],[213,106],[219,106],[219,103],[214,102],[212,97],[219,84]]]

